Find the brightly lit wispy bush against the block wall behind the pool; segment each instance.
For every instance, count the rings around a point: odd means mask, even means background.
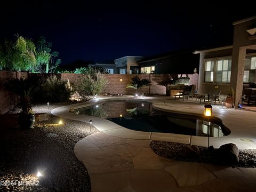
[[[108,79],[98,71],[98,73],[83,75],[81,84],[78,85],[78,91],[87,95],[100,94],[108,84]]]

